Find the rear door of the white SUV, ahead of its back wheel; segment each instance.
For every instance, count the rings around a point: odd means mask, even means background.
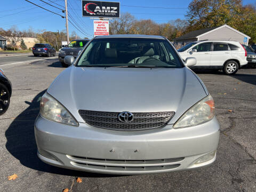
[[[232,59],[228,44],[213,42],[211,68],[221,68],[228,59]]]

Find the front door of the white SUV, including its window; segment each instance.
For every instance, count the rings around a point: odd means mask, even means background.
[[[192,50],[196,50],[193,52]],[[188,57],[196,58],[196,66],[199,68],[210,68],[211,65],[211,42],[197,44],[188,51]]]

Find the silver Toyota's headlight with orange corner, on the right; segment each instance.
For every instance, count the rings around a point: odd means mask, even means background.
[[[173,125],[173,128],[195,126],[210,121],[214,117],[214,110],[214,101],[209,94],[206,98],[188,109]]]

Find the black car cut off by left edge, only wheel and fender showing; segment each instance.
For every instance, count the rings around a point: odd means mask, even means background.
[[[0,69],[0,115],[3,115],[10,105],[12,84]]]

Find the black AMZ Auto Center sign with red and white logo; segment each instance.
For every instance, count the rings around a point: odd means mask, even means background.
[[[82,1],[83,17],[119,18],[119,2]]]

